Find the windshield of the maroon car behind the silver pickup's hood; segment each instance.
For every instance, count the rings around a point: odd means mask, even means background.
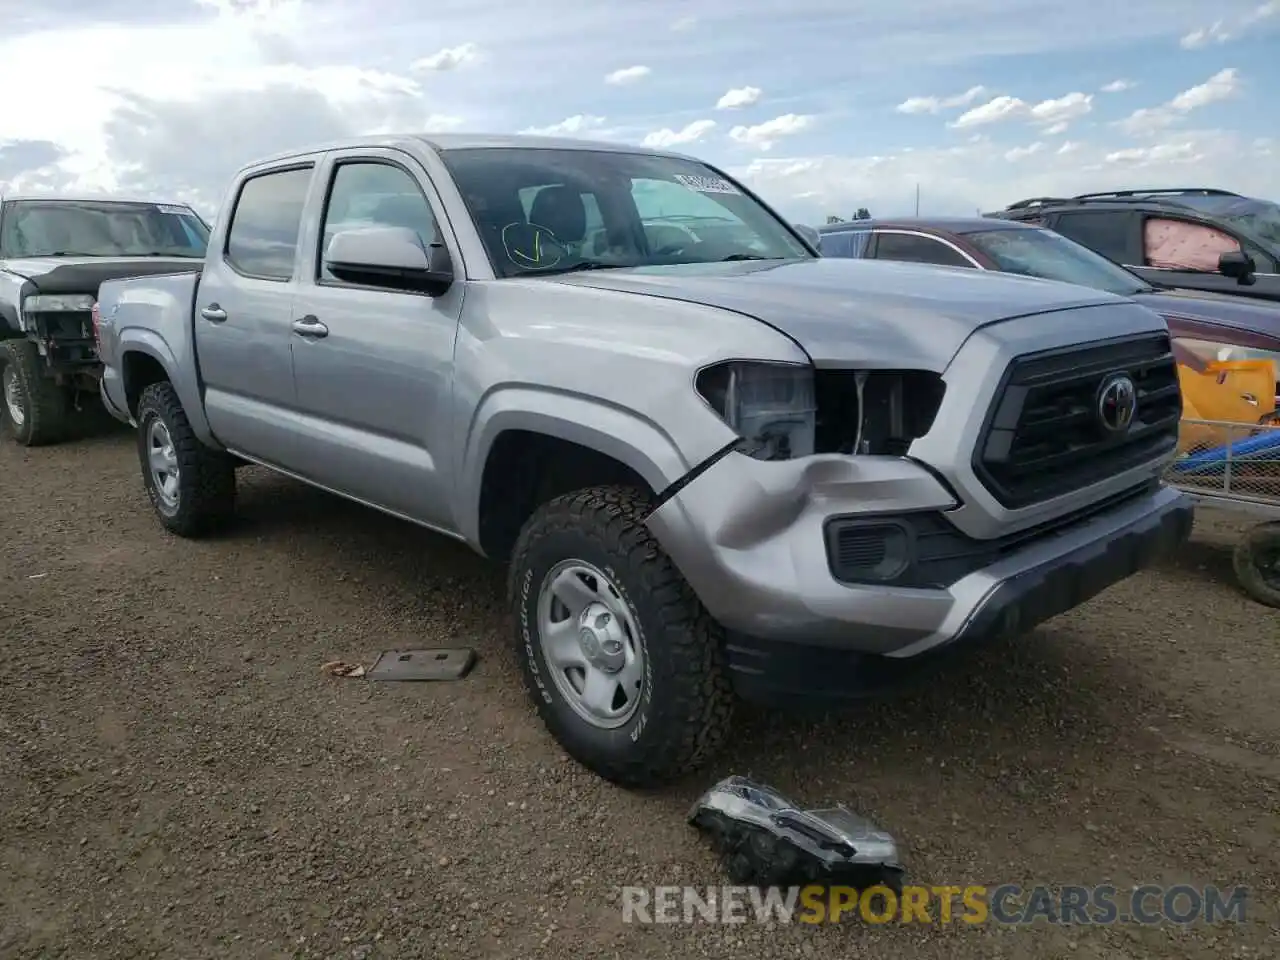
[[[1076,283],[1124,297],[1151,289],[1123,266],[1052,230],[978,230],[966,233],[965,238],[1005,273]]]

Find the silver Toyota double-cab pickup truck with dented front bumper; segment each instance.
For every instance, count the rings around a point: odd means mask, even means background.
[[[100,292],[160,522],[259,463],[507,563],[564,749],[640,786],[733,695],[879,690],[1185,539],[1165,323],[1097,291],[826,260],[723,172],[430,136],[243,169],[198,273]]]

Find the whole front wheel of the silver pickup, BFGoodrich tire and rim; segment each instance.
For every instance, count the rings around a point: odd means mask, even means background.
[[[648,506],[616,486],[553,499],[525,525],[508,582],[543,722],[573,759],[626,787],[698,769],[733,708],[723,631],[649,534]]]

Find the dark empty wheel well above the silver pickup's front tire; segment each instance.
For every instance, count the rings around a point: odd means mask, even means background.
[[[654,490],[635,470],[590,447],[531,430],[498,435],[480,481],[480,549],[507,561],[525,522],[540,506],[588,486]]]

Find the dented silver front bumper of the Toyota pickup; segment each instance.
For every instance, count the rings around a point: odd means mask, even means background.
[[[906,458],[730,453],[648,524],[741,650],[762,641],[904,660],[1062,613],[1185,540],[1193,517],[1187,497],[1143,484],[975,540],[946,521],[956,506],[943,481]],[[859,520],[901,527],[919,570],[887,582],[837,579],[832,524]]]

